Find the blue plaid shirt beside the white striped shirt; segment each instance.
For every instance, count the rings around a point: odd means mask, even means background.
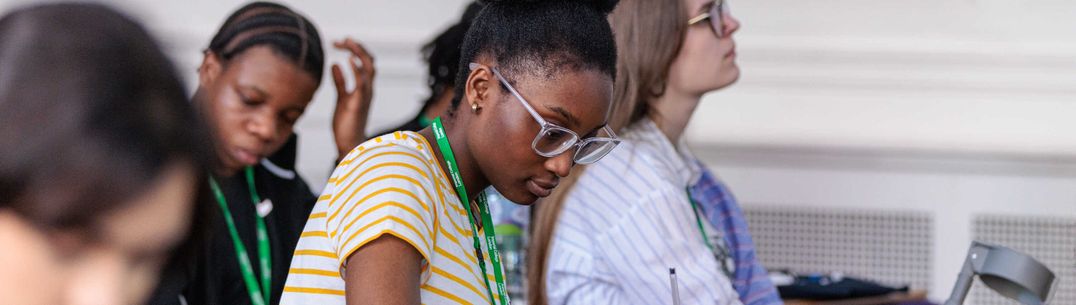
[[[754,253],[754,241],[747,228],[747,219],[736,198],[722,183],[699,164],[703,169],[698,182],[691,186],[691,196],[698,203],[699,210],[713,227],[721,230],[736,272],[733,274],[733,289],[739,293],[744,305],[784,304],[777,289],[769,281],[766,268],[759,263]]]

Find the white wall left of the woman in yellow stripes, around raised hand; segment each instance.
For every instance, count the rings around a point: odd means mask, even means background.
[[[26,3],[47,1],[0,0],[0,12]],[[189,89],[197,85],[195,69],[201,50],[233,10],[247,1],[236,0],[102,0],[141,19],[160,39],[166,52],[184,73]],[[277,1],[309,17],[323,41],[353,37],[364,42],[378,65],[377,97],[370,114],[370,130],[379,130],[410,119],[427,95],[420,46],[459,19],[464,1]],[[346,53],[327,51],[328,61],[344,60]],[[326,69],[328,71],[328,69]],[[322,87],[296,126],[300,137],[299,171],[320,190],[336,157],[330,123],[336,92],[326,73]]]

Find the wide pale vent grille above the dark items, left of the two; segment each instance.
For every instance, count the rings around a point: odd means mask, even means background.
[[[770,269],[841,272],[889,286],[931,287],[933,221],[924,212],[745,207]]]

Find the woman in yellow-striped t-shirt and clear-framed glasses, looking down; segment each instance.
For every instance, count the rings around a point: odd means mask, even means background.
[[[429,128],[359,144],[299,239],[286,304],[509,304],[480,194],[530,204],[618,139],[615,1],[487,1]],[[475,199],[472,202],[472,199]]]

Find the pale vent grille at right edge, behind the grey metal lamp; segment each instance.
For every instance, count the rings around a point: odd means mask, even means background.
[[[1076,219],[978,216],[973,220],[974,238],[1003,245],[1043,262],[1058,277],[1047,304],[1076,304]],[[976,280],[968,304],[1017,305]]]

